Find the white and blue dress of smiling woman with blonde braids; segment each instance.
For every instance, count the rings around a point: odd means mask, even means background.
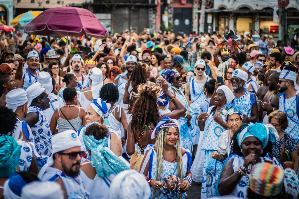
[[[157,172],[157,153],[156,150],[154,149],[153,144],[149,144],[147,145],[147,148],[144,150],[144,154],[147,153],[147,156],[144,158],[144,164],[141,165],[141,170],[140,173],[143,174],[144,172],[144,168],[146,166],[146,164],[148,163],[148,161],[152,160],[152,164],[149,163],[150,165],[152,165],[151,168],[149,168],[149,172],[147,174],[148,178],[151,178],[152,180],[156,180],[156,172]],[[186,176],[187,171],[190,171],[190,167],[191,167],[191,155],[190,153],[186,150],[186,153],[184,155],[182,155],[182,162],[183,162],[183,177]],[[163,178],[167,177],[167,175],[176,175],[176,169],[177,169],[177,163],[176,162],[168,162],[168,161],[163,161],[163,176],[162,176],[162,180]],[[168,172],[170,171],[170,173]],[[182,180],[182,179],[180,179]],[[153,198],[153,193],[154,193],[154,189],[151,187],[151,195],[150,195],[150,199]],[[165,197],[163,195],[163,193],[161,191],[156,191],[155,192],[155,199],[167,199],[167,197]],[[157,195],[158,194],[158,195]],[[187,196],[186,192],[182,194],[182,198],[184,198],[185,196]]]

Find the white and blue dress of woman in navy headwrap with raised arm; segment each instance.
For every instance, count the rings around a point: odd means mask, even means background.
[[[181,88],[177,89],[171,86],[168,89],[173,95],[176,95],[176,98],[179,99],[179,101],[182,104],[184,104],[184,106],[188,110],[188,102]],[[192,137],[190,134],[190,129],[188,127],[187,121],[188,120],[185,117],[181,117],[178,120],[180,126],[180,133],[181,133],[181,147],[188,149],[192,153]]]

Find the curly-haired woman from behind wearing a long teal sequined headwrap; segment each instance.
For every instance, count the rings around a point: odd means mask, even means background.
[[[89,199],[109,198],[111,181],[118,173],[130,169],[128,163],[108,149],[107,127],[92,122],[86,125],[82,134],[89,157],[81,163],[80,177],[89,192]]]

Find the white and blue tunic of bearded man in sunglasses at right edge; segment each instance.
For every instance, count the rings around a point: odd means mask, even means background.
[[[285,112],[288,117],[289,126],[285,129],[285,132],[292,135],[296,143],[299,140],[298,101],[298,95],[288,99],[286,99],[286,95],[281,95],[279,97],[278,107],[278,109]]]

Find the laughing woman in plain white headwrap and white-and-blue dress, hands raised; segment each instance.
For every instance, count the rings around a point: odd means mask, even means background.
[[[215,187],[212,187],[210,191],[206,190],[206,187],[211,186],[213,181],[206,169],[210,162],[213,161],[211,154],[217,150],[221,133],[228,129],[225,118],[221,117],[220,114],[225,108],[225,104],[231,104],[233,99],[234,94],[227,86],[218,87],[214,97],[215,106],[209,107],[207,113],[203,112],[198,117],[199,128],[203,131],[201,149],[205,151],[205,156],[201,157],[204,159],[201,198],[210,198],[215,196],[216,193]]]

